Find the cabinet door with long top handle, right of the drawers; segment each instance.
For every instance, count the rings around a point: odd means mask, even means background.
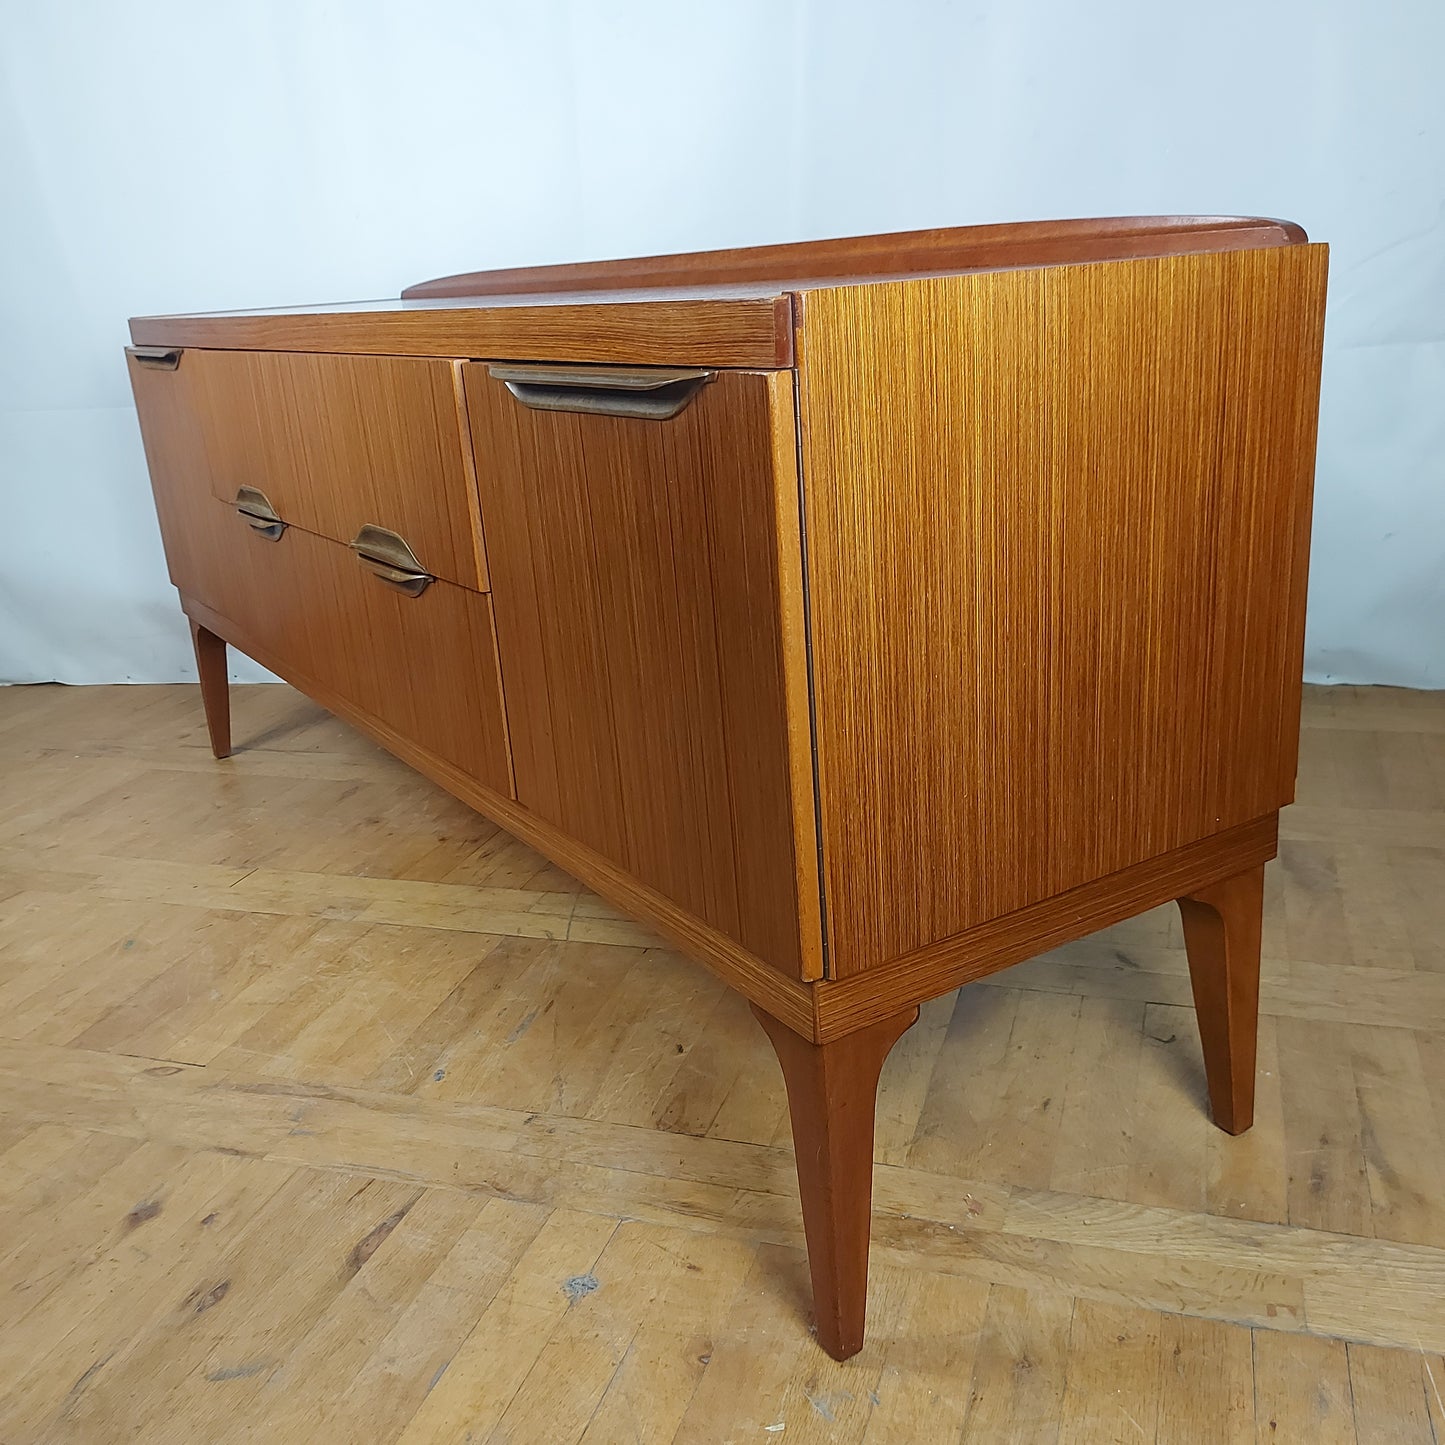
[[[462,371],[517,801],[821,977],[790,374],[668,416],[607,415],[595,368]]]

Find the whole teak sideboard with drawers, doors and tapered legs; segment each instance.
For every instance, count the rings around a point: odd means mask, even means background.
[[[1250,1124],[1325,262],[1030,223],[136,319],[214,750],[230,643],[741,990],[844,1358],[922,1000],[1178,899]]]

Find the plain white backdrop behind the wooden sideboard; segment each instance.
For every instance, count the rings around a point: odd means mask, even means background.
[[[192,675],[130,315],[1188,211],[1334,247],[1309,676],[1445,686],[1442,74],[1441,0],[0,0],[0,679]]]

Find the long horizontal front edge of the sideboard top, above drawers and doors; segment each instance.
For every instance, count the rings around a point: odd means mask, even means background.
[[[204,316],[136,316],[136,345],[367,355],[513,357],[621,366],[786,367],[793,309],[776,288],[744,295],[371,301]]]

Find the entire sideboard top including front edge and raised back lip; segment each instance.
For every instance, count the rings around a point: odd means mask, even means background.
[[[793,364],[799,290],[1305,241],[1289,221],[1026,221],[737,250],[468,272],[399,298],[137,316],[136,345],[630,361]]]

